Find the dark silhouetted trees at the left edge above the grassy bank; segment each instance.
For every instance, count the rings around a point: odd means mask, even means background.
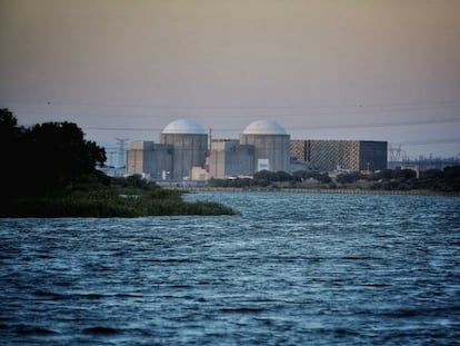
[[[0,196],[18,197],[62,191],[84,177],[97,177],[106,150],[84,139],[73,122],[18,126],[8,109],[0,109]]]

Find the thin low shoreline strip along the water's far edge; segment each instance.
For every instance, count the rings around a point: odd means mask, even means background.
[[[403,196],[441,196],[460,197],[460,191],[432,191],[432,190],[364,190],[364,189],[318,189],[318,188],[237,188],[237,187],[191,187],[170,186],[166,189],[187,192],[289,192],[289,194],[339,194],[339,195],[403,195]]]

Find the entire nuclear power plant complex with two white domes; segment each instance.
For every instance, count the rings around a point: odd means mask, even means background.
[[[386,141],[291,140],[273,120],[249,123],[239,139],[212,139],[194,120],[170,122],[160,144],[133,141],[127,170],[153,180],[182,181],[252,176],[260,170],[292,172],[387,168]]]

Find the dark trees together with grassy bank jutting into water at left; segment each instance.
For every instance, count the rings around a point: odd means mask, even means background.
[[[106,151],[71,122],[18,127],[0,110],[0,217],[139,217],[231,215],[212,202],[186,202],[179,191],[140,176],[109,178],[97,170]]]

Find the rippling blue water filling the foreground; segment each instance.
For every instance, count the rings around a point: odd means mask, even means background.
[[[0,219],[2,345],[453,345],[460,199],[199,192],[224,217]]]

